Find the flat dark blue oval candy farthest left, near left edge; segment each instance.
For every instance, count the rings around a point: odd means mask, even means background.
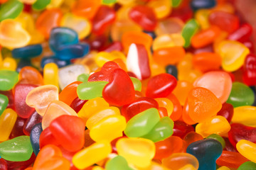
[[[32,58],[41,55],[43,52],[42,45],[28,45],[26,47],[15,48],[11,51],[14,58]]]

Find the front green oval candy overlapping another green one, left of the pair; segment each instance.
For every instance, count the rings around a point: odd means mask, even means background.
[[[134,115],[124,130],[127,137],[142,137],[150,132],[160,120],[159,112],[156,108],[149,108],[142,113]]]

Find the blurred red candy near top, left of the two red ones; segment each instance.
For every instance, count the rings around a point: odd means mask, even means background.
[[[94,18],[92,19],[92,33],[101,35],[105,32],[106,28],[114,23],[116,14],[110,6],[100,6]]]

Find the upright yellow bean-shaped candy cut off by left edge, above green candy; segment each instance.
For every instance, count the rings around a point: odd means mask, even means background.
[[[17,113],[11,108],[6,108],[0,116],[0,141],[6,141],[14,128],[17,119]]]

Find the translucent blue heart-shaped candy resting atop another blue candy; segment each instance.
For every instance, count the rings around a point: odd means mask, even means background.
[[[50,32],[49,45],[53,52],[60,50],[65,45],[75,45],[78,42],[78,33],[70,28],[57,27]]]

